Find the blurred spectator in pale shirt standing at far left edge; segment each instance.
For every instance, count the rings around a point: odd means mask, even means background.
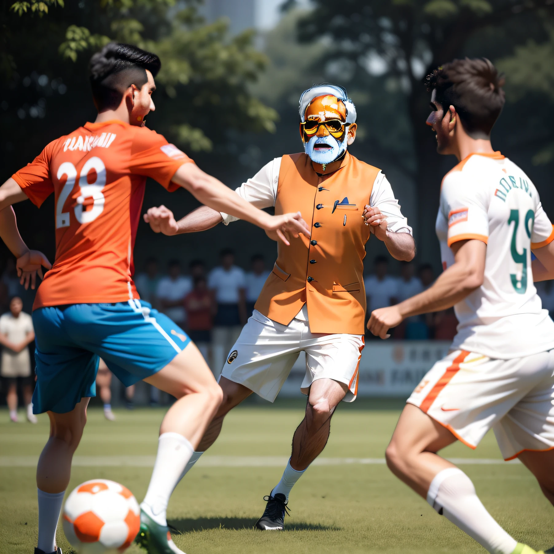
[[[33,320],[22,310],[23,301],[14,296],[9,303],[9,312],[0,317],[0,344],[3,345],[0,375],[7,384],[9,418],[17,422],[17,384],[20,381],[27,405],[27,419],[37,423],[37,417],[33,414],[34,383],[28,348],[34,341]]]

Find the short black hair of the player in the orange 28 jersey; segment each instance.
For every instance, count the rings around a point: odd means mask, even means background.
[[[115,109],[131,85],[142,88],[147,82],[146,70],[155,77],[162,63],[156,54],[131,44],[106,44],[90,58],[90,85],[98,110]]]

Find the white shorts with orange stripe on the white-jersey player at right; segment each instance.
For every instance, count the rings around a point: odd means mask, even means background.
[[[493,428],[505,460],[554,448],[554,350],[494,360],[456,350],[423,377],[408,403],[475,448]]]

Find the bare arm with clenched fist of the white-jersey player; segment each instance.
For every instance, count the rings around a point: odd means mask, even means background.
[[[450,248],[454,252],[454,264],[432,286],[400,304],[371,312],[367,328],[373,335],[388,338],[388,330],[406,317],[446,310],[483,284],[486,244],[476,239],[460,240]]]

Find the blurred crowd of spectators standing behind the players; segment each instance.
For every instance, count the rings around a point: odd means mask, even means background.
[[[390,257],[378,255],[373,260],[372,273],[364,279],[367,314],[424,291],[435,279],[430,264],[417,266],[413,262],[402,262],[399,275],[392,274],[390,264]],[[370,266],[371,263],[366,264],[366,267]],[[148,258],[142,270],[137,272],[135,284],[142,300],[165,313],[188,333],[217,377],[225,356],[252,315],[269,273],[264,255],[253,255],[250,267],[245,270],[235,263],[234,251],[225,248],[219,253],[219,264],[211,270],[202,259],[192,260],[187,268],[178,259],[171,259],[166,268],[162,268],[157,258]],[[537,283],[536,286],[543,308],[551,316],[554,315],[552,281]],[[27,419],[36,421],[30,403],[34,377],[34,332],[29,314],[33,297],[34,291],[25,291],[19,284],[15,260],[8,258],[0,276],[0,402],[6,399],[14,421],[17,420],[18,396],[27,407]],[[451,308],[409,317],[392,330],[392,338],[450,341],[456,334],[456,325],[458,320]],[[378,340],[378,337],[367,332],[366,340]],[[96,386],[106,418],[114,418],[111,413],[111,373],[104,362],[101,362]],[[120,387],[120,400],[127,408],[133,407],[134,392],[134,386]],[[150,387],[149,394],[151,406],[169,401],[154,387]]]

